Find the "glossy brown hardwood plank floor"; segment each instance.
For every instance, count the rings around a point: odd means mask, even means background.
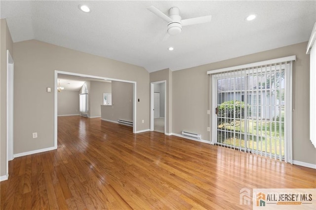
[[[10,161],[0,185],[1,210],[237,210],[241,188],[316,188],[316,170],[69,116],[58,149]]]

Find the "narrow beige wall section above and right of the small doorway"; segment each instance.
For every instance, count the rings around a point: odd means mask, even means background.
[[[166,80],[166,133],[171,134],[172,130],[172,71],[169,69],[159,70],[150,73],[150,82]],[[150,85],[149,85],[150,87]]]

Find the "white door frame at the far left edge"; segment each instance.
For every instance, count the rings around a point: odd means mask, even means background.
[[[9,50],[6,50],[6,175],[9,173],[9,161],[13,160],[13,82],[14,62]]]

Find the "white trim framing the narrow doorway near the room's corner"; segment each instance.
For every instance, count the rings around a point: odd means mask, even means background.
[[[150,83],[150,130],[154,131],[154,85],[164,83],[164,134],[166,134],[166,120],[167,120],[167,81],[157,81]]]

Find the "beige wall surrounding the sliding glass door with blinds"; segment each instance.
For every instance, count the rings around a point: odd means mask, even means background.
[[[189,130],[209,140],[209,76],[206,71],[296,55],[293,73],[293,160],[316,164],[316,149],[309,140],[309,55],[307,42],[173,71],[173,133]],[[190,100],[188,100],[190,99]]]

